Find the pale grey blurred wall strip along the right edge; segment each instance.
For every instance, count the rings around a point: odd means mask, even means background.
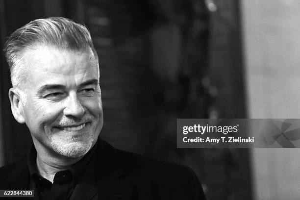
[[[300,118],[300,1],[243,0],[249,118]],[[253,149],[255,200],[300,197],[300,150]]]

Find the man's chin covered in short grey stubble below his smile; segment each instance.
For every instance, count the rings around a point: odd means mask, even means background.
[[[51,138],[52,149],[63,156],[77,158],[85,155],[92,149],[94,138],[88,137],[83,141],[60,140],[58,138]]]

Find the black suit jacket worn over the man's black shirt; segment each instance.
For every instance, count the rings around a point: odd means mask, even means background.
[[[197,176],[187,167],[116,150],[101,140],[96,153],[96,182],[83,178],[72,200],[205,199]],[[28,189],[28,181],[26,157],[0,168],[0,189]]]

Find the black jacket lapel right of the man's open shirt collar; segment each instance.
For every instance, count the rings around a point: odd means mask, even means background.
[[[100,200],[131,200],[132,185],[116,150],[100,140],[97,159],[97,186]]]

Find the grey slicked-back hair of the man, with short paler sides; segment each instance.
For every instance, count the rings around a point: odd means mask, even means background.
[[[35,45],[61,50],[91,49],[98,62],[90,32],[84,25],[62,17],[34,20],[13,32],[4,45],[13,87],[22,88],[24,85],[23,51]]]

